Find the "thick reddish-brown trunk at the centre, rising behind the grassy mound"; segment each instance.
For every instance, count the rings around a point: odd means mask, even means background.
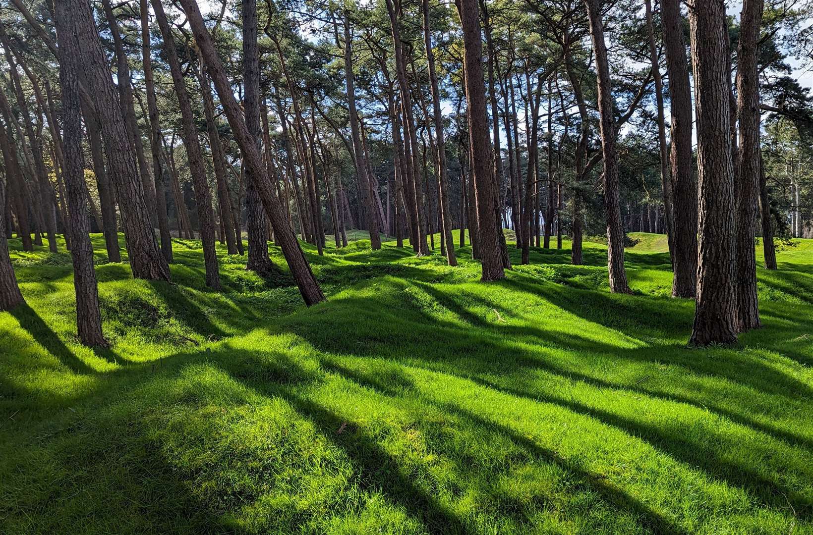
[[[483,78],[480,8],[477,0],[457,3],[463,23],[463,63],[466,66],[466,100],[469,118],[469,143],[472,149],[472,175],[477,203],[477,231],[483,263],[482,280],[505,278],[494,214],[494,181],[491,175],[491,141],[485,112],[485,79]]]

